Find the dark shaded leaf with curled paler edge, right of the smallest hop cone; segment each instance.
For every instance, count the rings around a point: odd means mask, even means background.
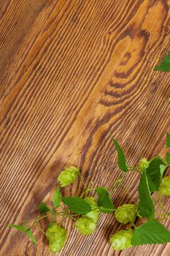
[[[147,168],[147,181],[149,184],[150,192],[158,191],[161,184],[163,166],[166,169],[166,165],[160,157],[155,157],[150,161],[150,165]]]

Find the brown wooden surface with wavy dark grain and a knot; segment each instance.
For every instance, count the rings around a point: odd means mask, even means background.
[[[0,255],[52,255],[36,230],[37,247],[7,225],[37,216],[63,167],[112,185],[120,173],[110,135],[129,165],[166,153],[170,73],[153,67],[169,52],[169,7],[169,0],[0,1]],[[136,198],[137,180],[128,175]],[[64,192],[81,190],[78,181]],[[130,201],[121,189],[112,199]],[[108,238],[123,226],[112,214],[88,237],[72,221],[65,227],[62,256],[169,255],[169,244],[113,252]]]

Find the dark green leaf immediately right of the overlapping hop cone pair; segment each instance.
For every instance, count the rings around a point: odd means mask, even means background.
[[[110,210],[100,210],[101,212],[104,212],[105,214],[110,214],[114,209],[114,205],[112,203],[112,200],[109,197],[109,193],[107,192],[107,189],[104,189],[103,187],[97,187],[96,192],[98,194],[98,206],[107,208]]]

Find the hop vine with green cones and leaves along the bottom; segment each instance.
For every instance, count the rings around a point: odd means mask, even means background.
[[[59,252],[66,243],[66,239],[69,239],[64,228],[66,218],[72,219],[78,232],[84,236],[89,236],[98,227],[99,214],[104,213],[112,214],[112,218],[115,218],[117,222],[128,225],[124,230],[110,236],[108,242],[114,250],[123,250],[142,244],[170,242],[169,230],[160,223],[170,217],[170,212],[163,208],[161,201],[163,196],[170,195],[170,176],[163,177],[170,165],[170,153],[166,154],[165,159],[154,157],[148,161],[143,157],[136,167],[129,167],[123,149],[115,139],[113,139],[113,143],[117,149],[117,163],[123,175],[115,181],[112,187],[91,187],[93,184],[88,187],[83,181],[79,167],[66,167],[57,178],[58,187],[53,195],[53,207],[49,207],[42,202],[39,204],[39,216],[36,219],[31,222],[24,221],[22,225],[11,224],[9,227],[26,233],[31,241],[37,245],[33,233],[36,226],[47,238],[50,251]],[[166,136],[166,148],[170,148],[169,133]],[[133,198],[124,184],[125,175],[130,171],[136,171],[140,174],[139,200],[137,203],[124,203],[122,206],[115,208],[110,196],[111,191],[115,192],[117,188],[122,187],[125,192],[128,192],[129,197]],[[63,196],[60,187],[70,186],[79,177],[84,187],[82,194],[80,196]],[[90,195],[91,192],[96,193],[96,196]],[[158,207],[163,211],[163,214],[159,216],[155,216],[153,192],[158,193]],[[136,226],[137,218],[144,218],[144,224]],[[44,219],[49,222],[46,230],[42,228]]]

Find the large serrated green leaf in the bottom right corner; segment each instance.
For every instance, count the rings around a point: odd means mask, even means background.
[[[170,242],[170,232],[159,222],[149,221],[136,227],[131,244],[163,244]]]

